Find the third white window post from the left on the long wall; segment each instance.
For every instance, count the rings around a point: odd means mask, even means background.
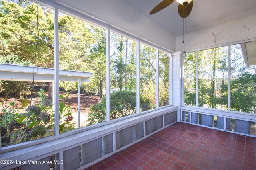
[[[140,113],[140,41],[136,41],[136,113]]]

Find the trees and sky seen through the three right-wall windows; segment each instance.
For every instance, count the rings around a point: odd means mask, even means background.
[[[240,45],[231,46],[231,110],[256,113],[256,69],[245,66]],[[196,106],[196,53],[185,59],[184,103]],[[200,107],[228,109],[228,48],[198,51]]]

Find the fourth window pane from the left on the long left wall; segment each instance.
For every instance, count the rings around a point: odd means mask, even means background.
[[[156,108],[156,49],[140,44],[140,111]]]

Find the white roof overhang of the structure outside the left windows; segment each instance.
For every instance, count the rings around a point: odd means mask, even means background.
[[[34,70],[34,71],[33,71]],[[32,66],[20,66],[13,64],[0,64],[0,80],[7,81],[33,81],[36,82],[54,82],[54,69],[42,68]],[[72,70],[60,70],[60,81],[74,81],[77,82],[81,78],[81,82],[90,82],[90,77],[93,76],[91,72],[80,72]]]

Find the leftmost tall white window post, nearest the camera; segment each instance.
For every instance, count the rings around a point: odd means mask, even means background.
[[[60,61],[59,61],[59,21],[58,8],[54,8],[54,133],[60,135]]]

